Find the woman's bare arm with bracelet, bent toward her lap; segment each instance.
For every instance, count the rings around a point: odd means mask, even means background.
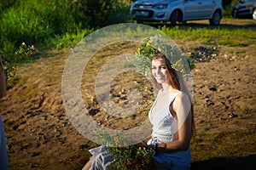
[[[157,152],[172,152],[177,150],[187,150],[191,139],[191,122],[190,113],[191,102],[186,94],[180,94],[173,101],[173,111],[177,115],[177,134],[176,141],[167,142],[166,144],[158,144]]]

